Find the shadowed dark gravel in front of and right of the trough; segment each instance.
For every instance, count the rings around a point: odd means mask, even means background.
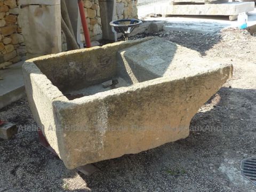
[[[95,191],[255,191],[239,171],[243,158],[256,155],[255,94],[223,87],[193,118],[188,138],[95,163],[101,172],[81,176]]]

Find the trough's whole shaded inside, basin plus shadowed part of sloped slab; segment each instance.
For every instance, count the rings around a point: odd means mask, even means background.
[[[173,43],[159,38],[123,46],[126,44],[60,53],[34,62],[73,100],[162,77],[175,53]]]

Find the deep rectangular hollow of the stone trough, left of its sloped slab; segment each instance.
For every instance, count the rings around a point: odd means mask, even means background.
[[[53,85],[73,100],[134,83],[118,57],[118,46],[60,53],[34,63]],[[102,83],[113,81],[110,86]]]

